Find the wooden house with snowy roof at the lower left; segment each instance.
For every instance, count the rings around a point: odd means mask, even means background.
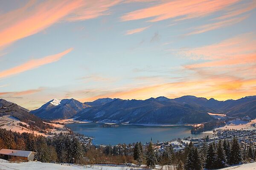
[[[35,152],[26,150],[1,149],[0,158],[12,161],[33,161]]]

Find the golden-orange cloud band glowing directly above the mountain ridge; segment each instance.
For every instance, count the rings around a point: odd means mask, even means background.
[[[121,99],[148,99],[166,96],[175,98],[183,95],[202,96],[218,100],[239,99],[243,96],[256,94],[256,79],[230,79],[213,77],[211,79],[172,82],[145,86],[133,89],[120,89],[106,92],[103,95],[81,98],[82,102],[99,98],[111,97]]]

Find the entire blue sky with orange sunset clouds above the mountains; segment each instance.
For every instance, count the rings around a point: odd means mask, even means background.
[[[255,0],[0,0],[0,98],[256,95]]]

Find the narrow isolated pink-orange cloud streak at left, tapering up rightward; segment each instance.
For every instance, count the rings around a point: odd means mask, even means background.
[[[14,68],[10,68],[8,70],[4,70],[0,72],[0,78],[5,78],[5,77],[9,77],[15,74],[20,74],[24,71],[28,71],[34,68],[38,68],[41,65],[45,65],[45,64],[49,64],[51,62],[56,62],[59,59],[61,59],[61,57],[63,57],[64,55],[68,54],[70,51],[72,51],[73,48],[67,49],[66,51],[63,51],[61,53],[58,54],[54,54],[54,55],[50,55],[50,56],[46,56],[44,58],[41,59],[32,59],[22,65],[16,66]]]

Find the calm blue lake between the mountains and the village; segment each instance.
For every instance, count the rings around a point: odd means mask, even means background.
[[[102,127],[103,123],[68,124],[73,132],[85,136],[93,136],[93,144],[129,144],[133,142],[170,141],[184,137],[204,137],[209,134],[191,134],[190,126],[143,126],[119,125],[118,127]]]

